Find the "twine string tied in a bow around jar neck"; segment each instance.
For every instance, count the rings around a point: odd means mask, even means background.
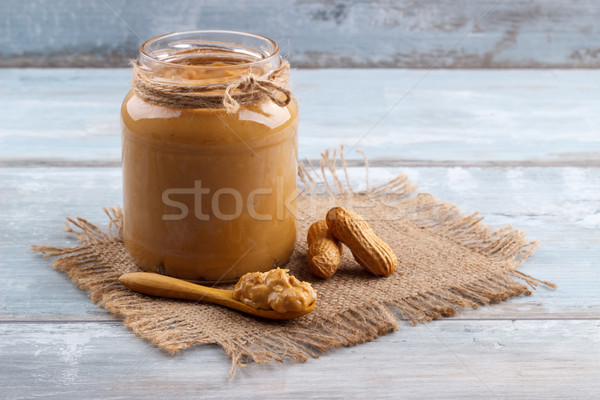
[[[211,108],[235,113],[242,106],[271,99],[280,107],[287,106],[292,94],[287,89],[290,64],[287,61],[262,76],[248,74],[233,82],[209,85],[160,82],[132,62],[132,88],[142,100],[176,109]]]

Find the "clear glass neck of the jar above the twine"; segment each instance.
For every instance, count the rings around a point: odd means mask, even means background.
[[[138,67],[161,83],[214,85],[264,76],[282,64],[275,42],[234,31],[171,33],[145,42]]]

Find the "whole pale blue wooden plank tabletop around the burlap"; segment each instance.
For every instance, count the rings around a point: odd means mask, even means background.
[[[298,70],[300,155],[341,143],[372,183],[421,190],[541,241],[522,270],[556,282],[305,364],[204,346],[170,356],[93,304],[31,244],[121,203],[125,69],[0,71],[3,398],[599,398],[600,71]],[[381,119],[383,117],[383,119]],[[360,160],[359,154],[349,157]],[[351,169],[362,181],[362,168]]]

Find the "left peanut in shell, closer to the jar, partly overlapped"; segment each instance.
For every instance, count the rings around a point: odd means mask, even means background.
[[[324,220],[313,223],[306,235],[308,268],[320,278],[335,274],[342,261],[342,245],[327,229]]]

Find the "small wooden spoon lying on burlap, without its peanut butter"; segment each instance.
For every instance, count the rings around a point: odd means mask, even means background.
[[[119,277],[119,281],[134,292],[158,297],[169,297],[172,299],[206,301],[268,319],[298,318],[315,309],[315,303],[312,303],[305,310],[285,313],[277,312],[275,310],[254,308],[234,299],[232,290],[215,289],[196,285],[195,283],[184,281],[182,279],[171,278],[152,272],[132,272],[124,274]]]

